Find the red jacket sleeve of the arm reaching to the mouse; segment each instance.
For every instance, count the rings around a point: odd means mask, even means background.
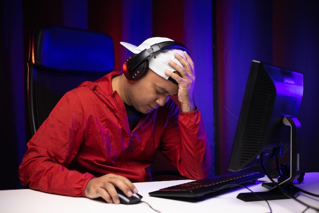
[[[47,193],[85,196],[89,173],[67,167],[83,141],[83,108],[77,96],[68,92],[27,144],[19,167],[22,185]]]

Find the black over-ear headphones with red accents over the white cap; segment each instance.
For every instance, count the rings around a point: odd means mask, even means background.
[[[149,49],[143,50],[139,54],[133,54],[123,64],[123,72],[128,80],[138,80],[148,70],[148,58],[158,51],[177,49],[186,51],[190,55],[190,51],[185,45],[176,41],[164,41],[151,45]]]

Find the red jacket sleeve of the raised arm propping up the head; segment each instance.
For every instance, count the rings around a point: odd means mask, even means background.
[[[209,173],[210,149],[201,113],[196,107],[192,112],[180,112],[171,116],[161,152],[181,175],[191,179],[203,179]]]

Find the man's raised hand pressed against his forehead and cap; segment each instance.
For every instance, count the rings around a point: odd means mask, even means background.
[[[195,110],[194,102],[194,87],[195,87],[195,68],[194,62],[191,57],[184,51],[183,58],[181,55],[175,53],[175,58],[177,58],[183,67],[179,66],[173,61],[169,61],[169,65],[172,66],[177,73],[172,73],[165,70],[165,74],[172,77],[178,83],[178,101],[180,102],[180,107],[182,112],[190,112]]]

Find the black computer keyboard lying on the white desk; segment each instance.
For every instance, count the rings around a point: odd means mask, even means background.
[[[236,185],[231,184],[249,183],[249,181],[256,181],[262,177],[264,174],[259,172],[233,172],[162,188],[150,192],[149,195],[176,200],[199,201],[206,197],[225,193],[236,187]]]

